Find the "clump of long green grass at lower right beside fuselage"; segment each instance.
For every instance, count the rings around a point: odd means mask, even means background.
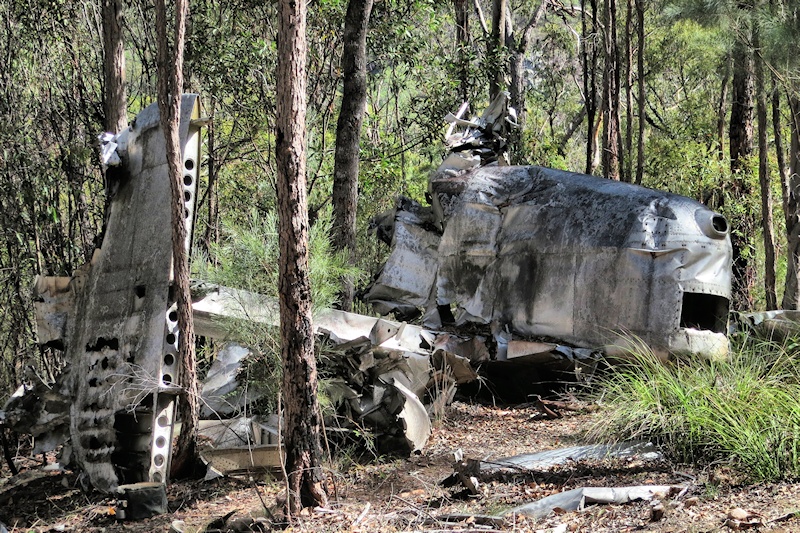
[[[600,377],[590,438],[645,439],[675,459],[727,461],[754,481],[800,478],[800,345],[734,339],[727,360],[659,360],[638,345]]]

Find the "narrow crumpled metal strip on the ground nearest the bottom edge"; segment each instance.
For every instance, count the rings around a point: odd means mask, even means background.
[[[678,493],[682,487],[672,485],[637,485],[632,487],[582,487],[547,496],[532,503],[520,505],[504,516],[525,515],[544,518],[554,509],[582,511],[591,504],[625,504],[638,500],[663,499]]]

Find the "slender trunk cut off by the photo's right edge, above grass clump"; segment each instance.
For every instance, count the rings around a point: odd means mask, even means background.
[[[791,139],[789,141],[788,199],[786,202],[786,284],[784,309],[798,309],[800,304],[800,98],[789,96]]]

